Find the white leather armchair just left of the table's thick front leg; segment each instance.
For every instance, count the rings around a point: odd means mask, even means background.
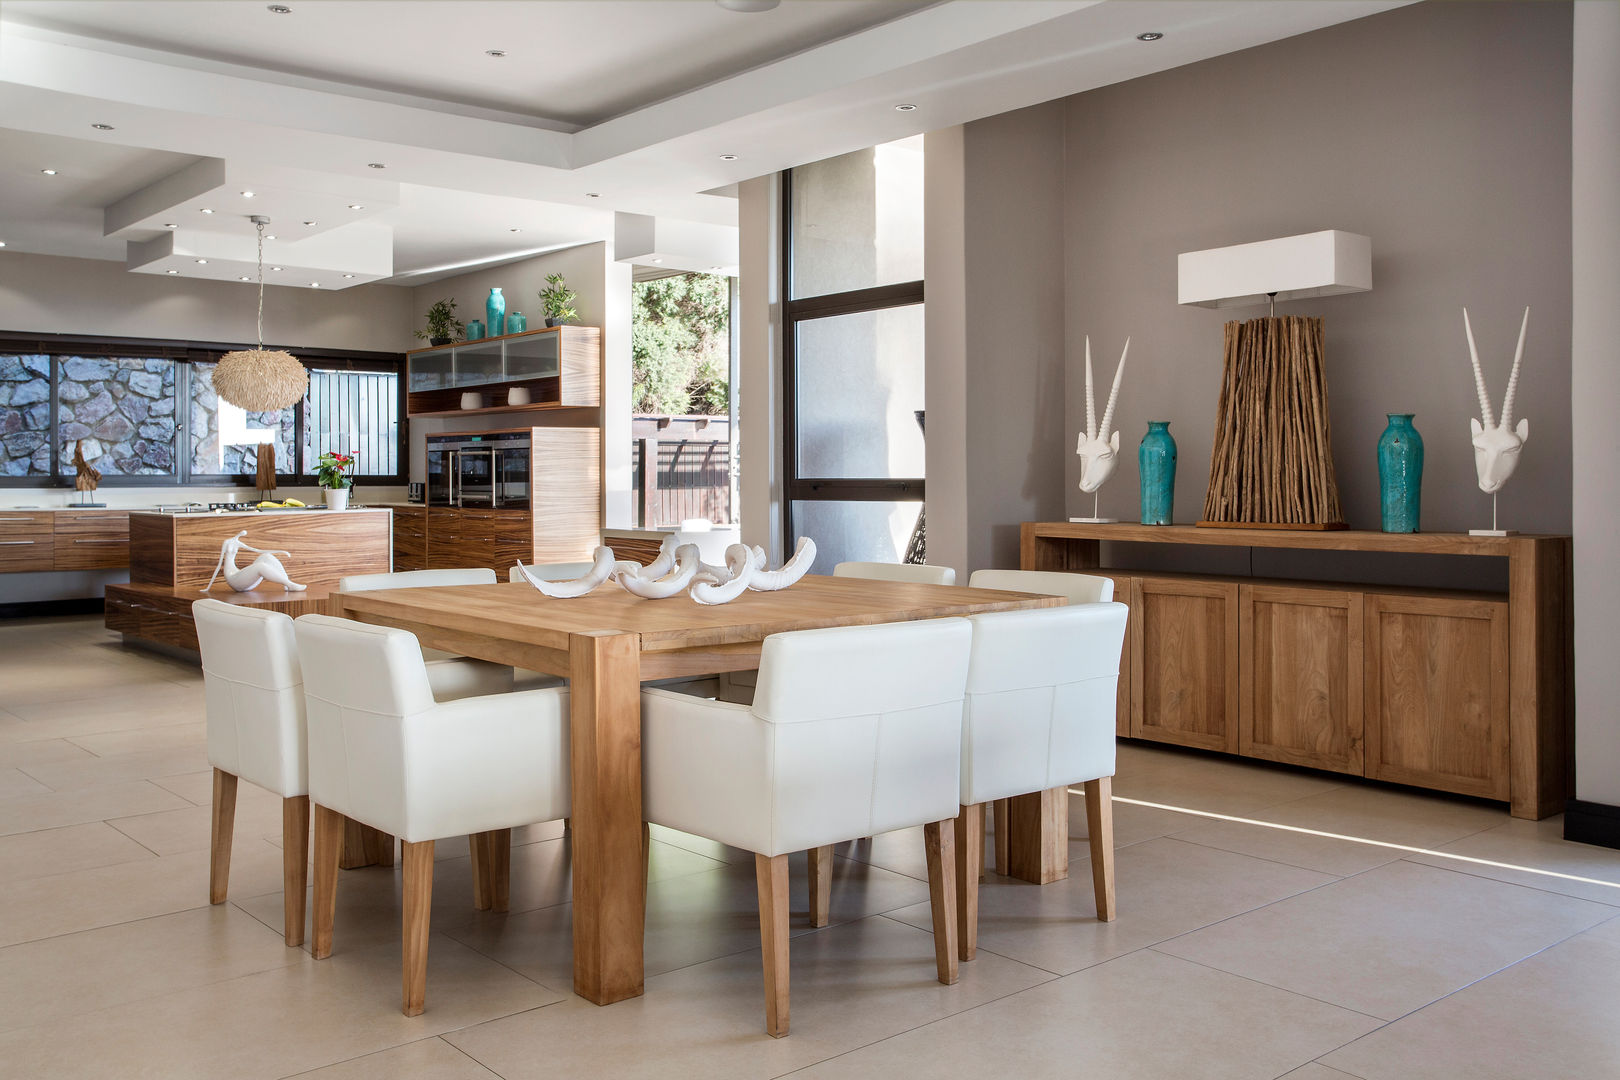
[[[569,814],[569,691],[437,701],[416,636],[330,615],[293,625],[309,717],[314,957],[332,954],[343,818],[403,842],[403,1012],[423,1010],[433,844],[483,837],[483,879],[505,910],[512,829]],[[476,891],[476,886],[475,886]]]

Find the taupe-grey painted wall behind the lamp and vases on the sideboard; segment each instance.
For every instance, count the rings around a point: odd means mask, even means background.
[[[1461,308],[1500,405],[1529,304],[1516,411],[1531,439],[1502,521],[1570,529],[1570,26],[1562,3],[1421,3],[1068,99],[1071,444],[1084,335],[1098,381],[1132,338],[1105,515],[1137,513],[1136,444],[1170,419],[1176,520],[1197,520],[1221,324],[1264,314],[1178,306],[1176,254],[1343,228],[1372,236],[1372,291],[1278,311],[1327,321],[1349,523],[1379,526],[1375,444],[1387,411],[1409,411],[1427,449],[1424,529],[1489,525]],[[1068,508],[1089,513],[1068,450]]]

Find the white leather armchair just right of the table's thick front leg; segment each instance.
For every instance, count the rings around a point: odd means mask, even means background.
[[[956,981],[954,832],[970,636],[962,619],[771,635],[752,706],[642,691],[646,819],[755,853],[773,1036],[789,1027],[791,852],[829,857],[842,840],[923,826],[938,978]],[[823,873],[823,895],[825,881]]]

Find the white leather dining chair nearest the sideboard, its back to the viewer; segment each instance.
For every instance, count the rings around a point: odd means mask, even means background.
[[[972,615],[962,717],[962,811],[957,942],[978,942],[978,874],[985,803],[1085,784],[1097,918],[1115,916],[1115,693],[1124,604],[1072,604]]]

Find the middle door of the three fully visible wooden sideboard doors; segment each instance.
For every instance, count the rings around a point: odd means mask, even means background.
[[[1361,593],[1243,585],[1238,606],[1239,753],[1361,776]]]

